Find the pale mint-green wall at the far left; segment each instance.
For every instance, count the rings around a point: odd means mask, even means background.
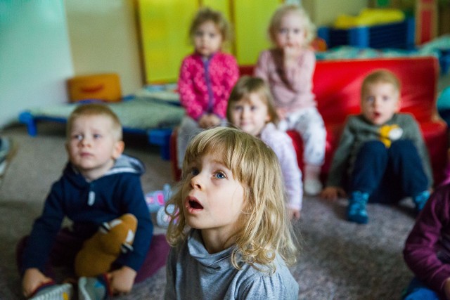
[[[0,0],[0,127],[67,101],[73,76],[63,0]]]

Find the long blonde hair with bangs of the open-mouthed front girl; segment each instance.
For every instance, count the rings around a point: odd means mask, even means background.
[[[267,272],[274,272],[276,254],[288,264],[295,263],[297,247],[285,211],[283,176],[278,158],[259,138],[228,127],[203,131],[189,143],[179,189],[166,204],[166,207],[169,204],[176,207],[170,214],[172,220],[167,229],[169,244],[175,247],[189,233],[190,228],[182,212],[181,187],[190,180],[186,175],[188,165],[205,155],[214,155],[214,159],[229,168],[244,188],[244,208],[233,235],[236,239],[231,256],[233,266],[240,269],[240,263],[250,263],[258,270],[264,268]]]

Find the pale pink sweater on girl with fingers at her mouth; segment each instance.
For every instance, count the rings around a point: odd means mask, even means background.
[[[283,57],[280,51],[266,50],[259,54],[255,76],[261,77],[269,84],[275,106],[288,112],[316,106],[312,93],[312,77],[316,68],[314,51],[305,49],[297,64],[285,71],[285,79],[290,86],[286,85],[280,76],[279,70],[282,68]]]

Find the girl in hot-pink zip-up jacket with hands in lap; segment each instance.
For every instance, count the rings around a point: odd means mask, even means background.
[[[181,63],[178,81],[180,102],[186,109],[178,131],[180,169],[191,138],[204,129],[224,124],[228,98],[239,77],[236,59],[221,52],[225,41],[231,39],[231,29],[220,12],[200,9],[189,36],[195,51]]]

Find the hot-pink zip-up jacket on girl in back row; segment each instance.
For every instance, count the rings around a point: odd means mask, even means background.
[[[228,98],[238,78],[238,63],[231,54],[218,52],[202,60],[194,53],[184,58],[178,90],[186,114],[195,120],[205,113],[225,119]]]

